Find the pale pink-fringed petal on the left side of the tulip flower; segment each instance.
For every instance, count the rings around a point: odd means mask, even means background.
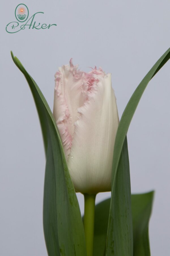
[[[74,123],[79,117],[77,108],[86,100],[84,72],[77,70],[72,59],[70,65],[63,65],[55,74],[53,114],[60,131],[66,159],[73,140]]]

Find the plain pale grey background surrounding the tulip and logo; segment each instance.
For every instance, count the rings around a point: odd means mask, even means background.
[[[1,1],[0,255],[45,256],[42,199],[45,157],[32,95],[10,50],[23,63],[53,108],[54,73],[73,57],[89,71],[112,73],[118,112],[170,47],[170,1],[24,1],[48,30],[8,34],[20,2]],[[150,221],[152,255],[169,254],[170,61],[146,89],[128,131],[131,190],[156,190]],[[96,202],[110,193],[97,195]],[[83,197],[78,194],[83,212]]]

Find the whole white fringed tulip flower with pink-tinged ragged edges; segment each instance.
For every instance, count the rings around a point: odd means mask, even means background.
[[[119,118],[111,74],[95,67],[63,65],[55,74],[54,118],[75,190],[111,191],[114,141]]]

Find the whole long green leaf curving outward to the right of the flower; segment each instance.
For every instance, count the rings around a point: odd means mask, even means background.
[[[130,175],[126,134],[139,100],[148,84],[170,58],[170,48],[150,69],[131,96],[120,119],[114,144],[112,165],[112,195],[107,235],[107,256],[132,256]]]

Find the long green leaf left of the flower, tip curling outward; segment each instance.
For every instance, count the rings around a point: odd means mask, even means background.
[[[62,142],[52,112],[35,81],[21,62],[12,59],[24,74],[39,114],[46,169],[44,180],[43,226],[49,256],[86,256],[86,244],[80,208],[71,181]]]

